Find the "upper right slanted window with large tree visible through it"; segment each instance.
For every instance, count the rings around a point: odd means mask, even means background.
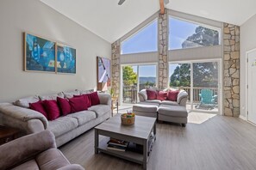
[[[220,45],[220,29],[169,18],[169,50]]]

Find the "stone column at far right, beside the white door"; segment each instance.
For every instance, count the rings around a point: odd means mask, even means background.
[[[224,115],[240,114],[240,27],[224,23]]]

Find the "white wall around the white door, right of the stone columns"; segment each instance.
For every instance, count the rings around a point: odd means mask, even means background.
[[[246,52],[256,48],[256,15],[240,27],[240,115],[246,117]]]

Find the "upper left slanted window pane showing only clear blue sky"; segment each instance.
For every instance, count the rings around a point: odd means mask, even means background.
[[[122,54],[139,53],[139,52],[156,52],[158,21],[153,21],[140,32],[134,34],[131,38],[122,42]]]

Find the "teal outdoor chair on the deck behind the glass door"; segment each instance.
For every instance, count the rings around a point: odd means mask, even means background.
[[[200,96],[200,104],[197,106],[198,107],[207,107],[209,109],[214,109],[216,106],[216,100],[217,100],[217,95],[213,94],[213,90],[211,89],[202,89]]]

